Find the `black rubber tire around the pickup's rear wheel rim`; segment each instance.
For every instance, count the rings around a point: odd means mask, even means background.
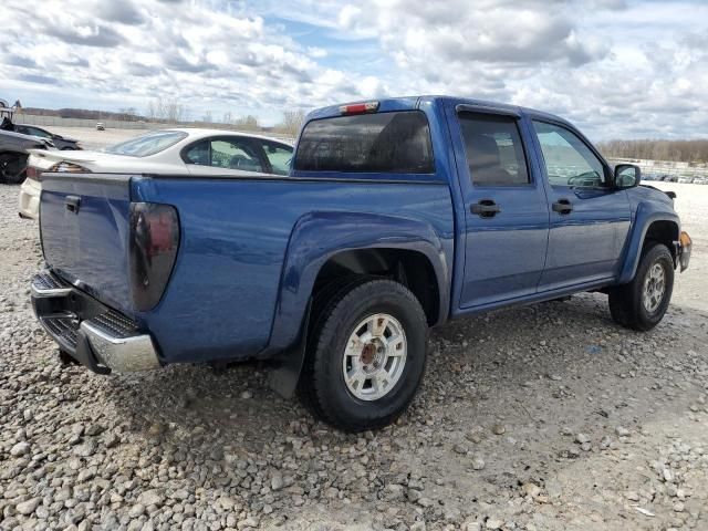
[[[325,289],[315,301],[313,325],[299,391],[313,414],[345,431],[392,424],[408,406],[425,372],[428,323],[416,296],[403,284],[371,277],[350,278]],[[368,315],[386,313],[402,325],[406,361],[398,381],[381,398],[364,400],[344,381],[343,358],[355,326]]]

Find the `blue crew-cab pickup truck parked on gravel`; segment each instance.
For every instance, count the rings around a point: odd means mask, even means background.
[[[690,256],[636,166],[475,100],[315,111],[287,176],[70,169],[43,174],[32,281],[63,356],[101,374],[271,358],[277,388],[351,431],[406,408],[429,327],[600,291],[646,331]]]

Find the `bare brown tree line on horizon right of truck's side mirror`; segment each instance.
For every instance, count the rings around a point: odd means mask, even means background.
[[[597,148],[608,158],[646,158],[681,163],[708,163],[708,139],[697,140],[606,140]]]

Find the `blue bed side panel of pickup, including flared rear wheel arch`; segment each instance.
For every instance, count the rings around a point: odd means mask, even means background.
[[[269,345],[281,299],[289,296],[279,309],[288,324],[275,341],[285,346],[300,327],[313,260],[337,250],[382,241],[415,246],[413,235],[419,241],[435,236],[428,249],[437,244],[439,258],[452,263],[446,183],[162,177],[134,179],[133,196],[179,212],[180,249],[166,293],[139,315],[167,362],[258,355]],[[291,246],[293,230],[313,220],[317,230]],[[285,271],[290,254],[295,266]]]

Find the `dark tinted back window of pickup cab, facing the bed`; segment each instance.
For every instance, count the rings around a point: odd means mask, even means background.
[[[428,119],[420,111],[315,119],[303,129],[294,168],[302,171],[431,174]]]

